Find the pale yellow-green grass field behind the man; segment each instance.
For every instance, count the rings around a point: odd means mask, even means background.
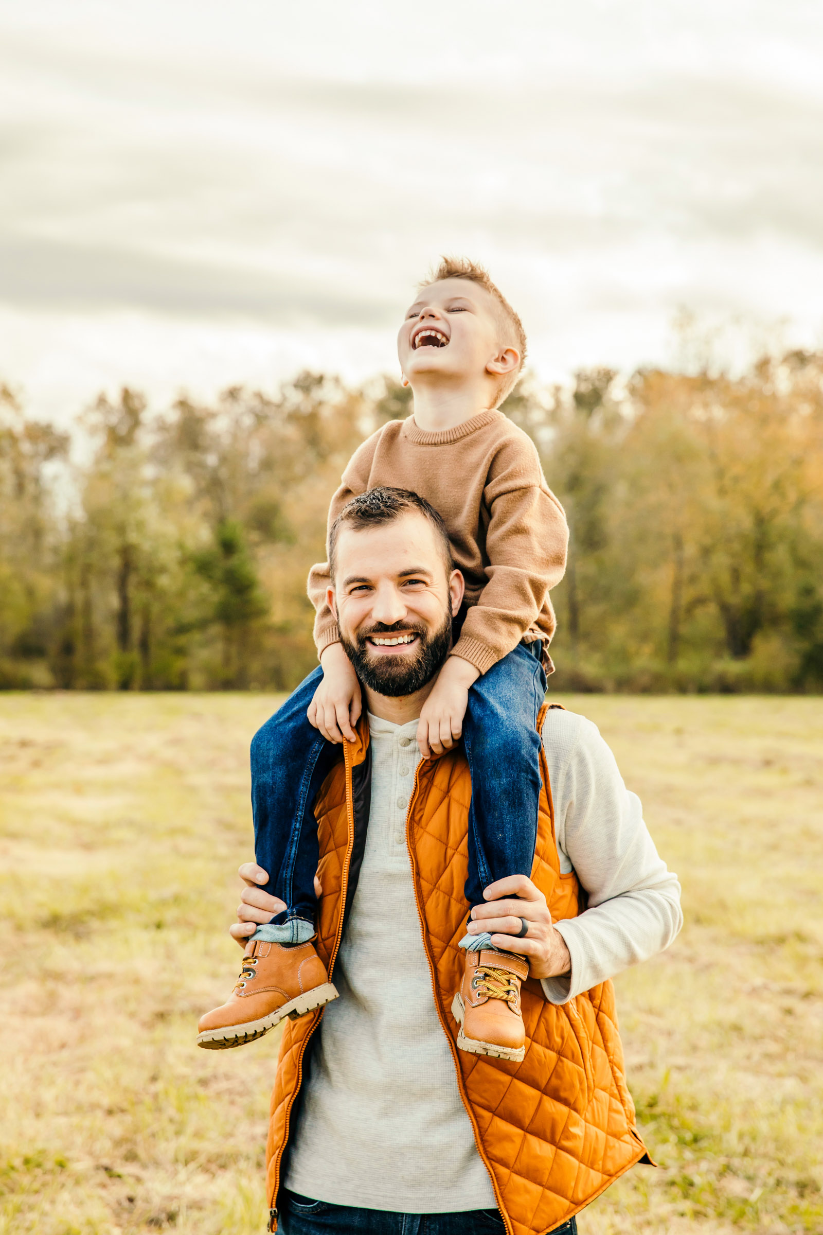
[[[617,978],[659,1170],[581,1235],[823,1231],[823,699],[565,699],[681,878]],[[0,695],[0,1231],[252,1235],[274,1036],[199,1051],[239,950],[263,695]]]

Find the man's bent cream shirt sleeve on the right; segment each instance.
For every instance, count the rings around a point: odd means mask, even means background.
[[[563,869],[574,869],[589,908],[558,921],[571,976],[544,978],[565,1003],[674,941],[682,926],[680,884],[659,857],[614,756],[591,721],[552,710],[543,727]]]

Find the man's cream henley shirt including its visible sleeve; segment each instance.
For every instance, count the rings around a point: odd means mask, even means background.
[[[338,1205],[399,1213],[494,1209],[491,1181],[434,1009],[405,821],[421,755],[417,721],[369,716],[371,811],[363,867],[305,1083],[286,1187]],[[591,721],[550,710],[543,726],[563,871],[589,893],[558,923],[571,977],[553,1003],[668,947],[680,884],[658,856],[608,746]]]

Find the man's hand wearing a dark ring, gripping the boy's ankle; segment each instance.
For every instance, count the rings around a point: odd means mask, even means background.
[[[556,978],[571,971],[571,957],[560,931],[552,924],[545,897],[524,874],[510,874],[484,890],[487,904],[471,910],[470,935],[487,930],[491,942],[506,952],[528,957],[533,978]],[[518,897],[518,900],[506,898]],[[523,939],[512,939],[528,923]]]

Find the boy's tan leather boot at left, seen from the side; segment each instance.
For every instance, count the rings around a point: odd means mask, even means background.
[[[253,940],[228,1003],[200,1018],[197,1046],[222,1051],[263,1037],[286,1016],[296,1020],[337,999],[311,940],[284,947]]]

